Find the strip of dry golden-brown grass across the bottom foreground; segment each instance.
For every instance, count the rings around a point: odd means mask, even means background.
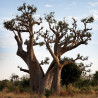
[[[0,92],[0,98],[98,98],[98,91],[95,90],[98,87],[94,88],[82,88],[77,89],[70,85],[67,89],[65,87],[61,87],[60,95],[56,95],[54,92],[51,94],[46,92],[45,94],[30,94],[28,92],[20,93],[18,91],[8,92],[5,88]],[[47,97],[49,95],[49,97]]]

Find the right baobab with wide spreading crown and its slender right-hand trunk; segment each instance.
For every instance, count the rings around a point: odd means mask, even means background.
[[[60,79],[61,79],[61,70],[62,68],[72,63],[76,60],[87,60],[88,57],[77,55],[76,59],[71,61],[66,61],[62,64],[60,62],[61,56],[66,52],[75,49],[76,47],[84,44],[87,45],[88,41],[91,40],[91,33],[89,32],[92,28],[88,28],[87,24],[92,23],[94,21],[93,17],[88,17],[82,19],[84,29],[77,29],[77,21],[73,19],[72,27],[69,27],[69,24],[63,21],[56,21],[54,18],[54,13],[46,15],[45,20],[48,22],[50,31],[52,34],[46,30],[46,32],[41,33],[40,35],[44,38],[45,45],[53,57],[53,62],[55,64],[51,64],[48,71],[55,68],[55,73],[53,77],[53,89],[60,93]],[[53,43],[54,50],[50,47],[50,44]]]

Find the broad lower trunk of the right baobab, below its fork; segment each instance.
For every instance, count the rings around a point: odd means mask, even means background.
[[[61,68],[56,68],[55,64],[55,61],[51,63],[41,81],[41,93],[44,93],[45,89],[53,89],[57,94],[60,94]]]

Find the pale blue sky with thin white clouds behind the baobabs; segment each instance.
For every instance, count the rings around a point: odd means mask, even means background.
[[[66,17],[67,21],[71,23],[71,18],[74,17],[78,21],[78,27],[81,28],[80,23],[82,18],[93,16],[95,21],[89,25],[93,30],[92,40],[88,45],[81,45],[78,48],[71,50],[63,55],[75,58],[78,53],[83,56],[88,56],[89,60],[86,63],[92,62],[91,73],[98,71],[98,0],[1,0],[0,1],[0,80],[9,79],[12,73],[20,77],[26,73],[20,72],[17,66],[27,68],[27,65],[20,57],[16,55],[17,43],[14,39],[14,34],[4,28],[3,22],[14,18],[19,12],[17,8],[23,3],[34,5],[37,7],[36,17],[55,12],[55,18],[61,20]],[[43,24],[44,27],[45,24]],[[37,29],[37,28],[35,28]],[[24,37],[27,35],[23,34]],[[38,60],[51,55],[45,47],[34,48]],[[50,59],[51,62],[52,59]],[[44,71],[47,70],[48,65],[42,66]]]

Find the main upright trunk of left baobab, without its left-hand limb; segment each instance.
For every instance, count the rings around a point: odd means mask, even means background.
[[[30,43],[27,47],[29,54],[29,72],[30,72],[30,87],[31,92],[38,92],[40,80],[43,78],[43,70],[39,65],[33,49],[33,36],[30,36]]]

